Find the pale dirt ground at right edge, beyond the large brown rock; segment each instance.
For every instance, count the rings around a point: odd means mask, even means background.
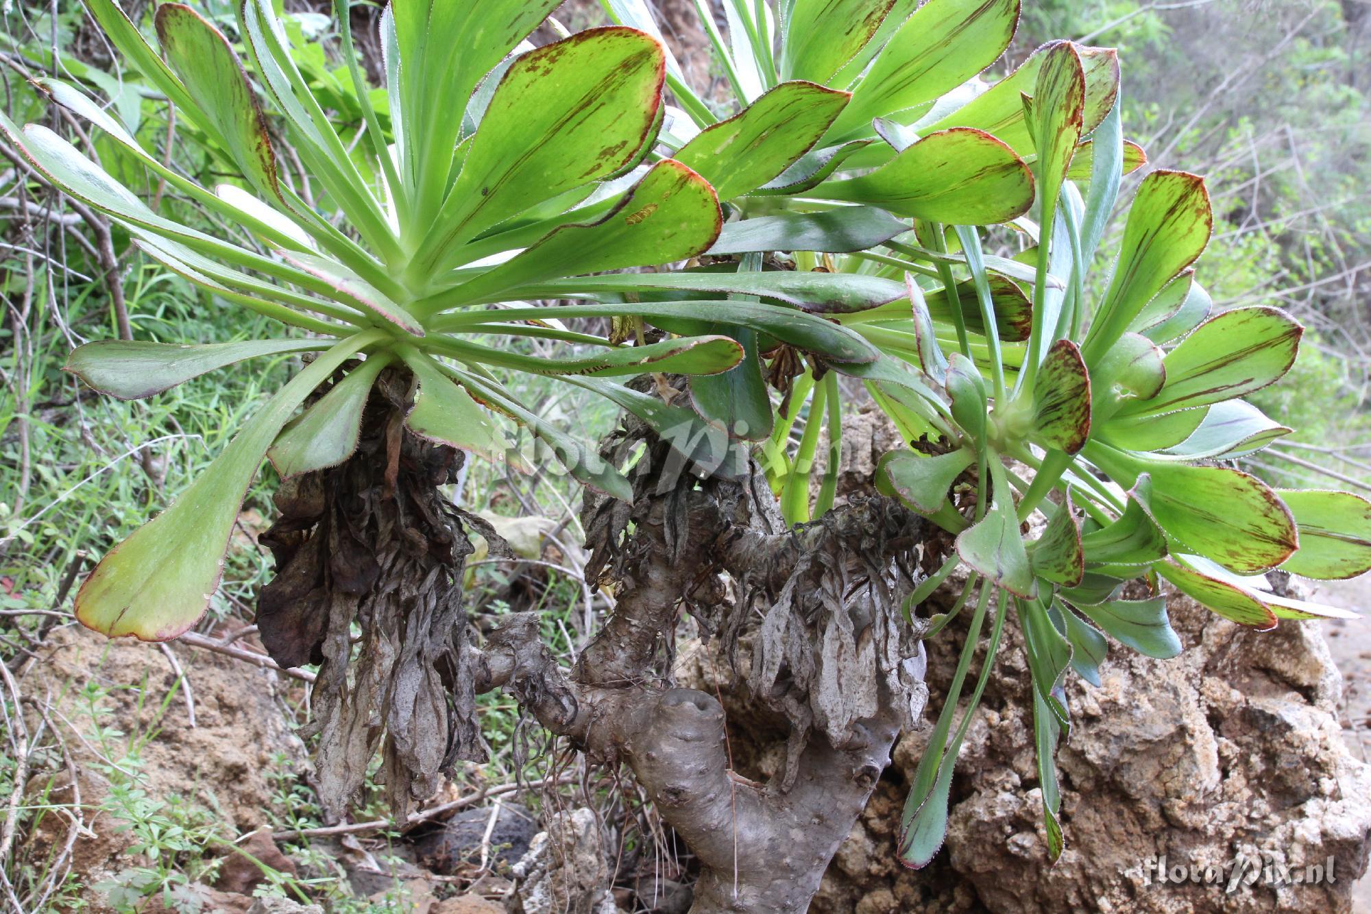
[[[1371,575],[1324,582],[1319,585],[1319,594],[1327,602],[1366,616],[1330,620],[1324,634],[1342,672],[1339,718],[1348,748],[1363,762],[1371,762]],[[1357,885],[1352,904],[1359,914],[1371,914],[1371,876]]]

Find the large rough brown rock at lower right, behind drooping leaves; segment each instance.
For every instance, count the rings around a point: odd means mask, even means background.
[[[946,851],[925,870],[893,867],[899,808],[927,740],[908,734],[812,910],[1350,910],[1371,840],[1371,767],[1342,742],[1341,682],[1319,623],[1257,633],[1186,598],[1174,597],[1169,611],[1180,656],[1152,660],[1111,645],[1101,688],[1068,679],[1072,731],[1057,756],[1067,849],[1056,866],[1010,624],[958,760]],[[930,719],[960,645],[947,634],[930,645]],[[1239,882],[1254,884],[1228,893],[1239,856]],[[1186,867],[1185,884],[1156,878],[1149,863],[1160,858]],[[1206,867],[1224,878],[1205,884]],[[1290,884],[1267,884],[1282,867]],[[1305,876],[1323,881],[1293,884]]]

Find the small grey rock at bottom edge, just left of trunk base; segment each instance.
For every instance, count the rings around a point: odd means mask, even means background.
[[[614,914],[605,841],[592,810],[554,812],[514,865],[511,914]]]

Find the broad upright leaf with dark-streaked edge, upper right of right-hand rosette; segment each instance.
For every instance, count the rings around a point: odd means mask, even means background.
[[[1194,263],[1213,229],[1204,180],[1186,172],[1153,172],[1138,185],[1113,280],[1082,351],[1091,365],[1143,306]]]

